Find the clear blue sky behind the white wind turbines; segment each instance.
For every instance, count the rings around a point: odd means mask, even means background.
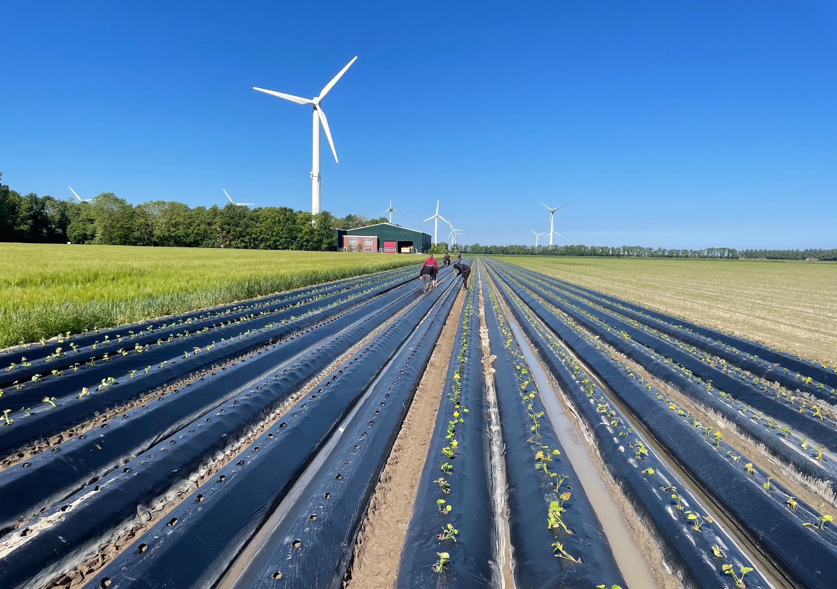
[[[837,247],[837,4],[5,3],[18,191],[440,213],[465,243]],[[563,213],[563,214],[561,214]]]

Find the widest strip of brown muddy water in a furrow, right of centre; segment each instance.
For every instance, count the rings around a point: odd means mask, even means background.
[[[619,510],[619,505],[608,490],[603,473],[593,463],[593,458],[584,443],[583,433],[579,432],[567,417],[562,402],[559,400],[557,388],[552,378],[547,375],[540,358],[531,350],[518,326],[513,322],[510,322],[510,325],[517,342],[521,345],[521,352],[526,358],[526,363],[529,364],[532,379],[538,391],[541,392],[543,405],[558,441],[567,453],[567,459],[573,464],[584,493],[587,494],[598,520],[602,523],[604,534],[608,537],[611,550],[614,551],[619,571],[622,572],[629,587],[654,589],[657,586],[654,575],[642,552],[634,544],[628,524]]]

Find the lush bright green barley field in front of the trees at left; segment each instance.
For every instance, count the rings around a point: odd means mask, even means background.
[[[0,347],[419,264],[420,257],[0,243]]]

